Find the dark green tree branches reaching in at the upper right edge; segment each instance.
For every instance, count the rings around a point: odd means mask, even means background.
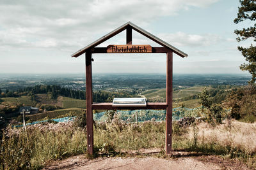
[[[256,20],[256,3],[255,0],[240,0],[241,6],[238,7],[237,18],[234,19],[234,22],[238,24],[244,20],[250,20],[255,22]],[[253,38],[253,41],[256,41],[256,24],[253,23],[253,26],[248,28],[243,28],[242,30],[235,30],[234,33],[238,35],[237,41],[244,41],[248,38]],[[255,83],[256,81],[256,46],[252,44],[250,47],[245,48],[242,46],[237,47],[241,51],[242,55],[248,61],[248,63],[241,64],[240,69],[243,71],[248,71],[252,74],[252,80],[249,83]]]

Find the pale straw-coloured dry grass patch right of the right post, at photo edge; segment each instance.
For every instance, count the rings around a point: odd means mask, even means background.
[[[207,123],[198,126],[198,142],[200,143],[220,143],[223,146],[236,147],[246,153],[256,153],[256,124],[238,122],[236,120],[228,125],[224,122],[221,125],[212,127]],[[193,138],[193,129],[188,133],[190,139]]]

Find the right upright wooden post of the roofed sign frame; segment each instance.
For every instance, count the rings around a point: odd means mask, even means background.
[[[167,52],[166,71],[166,134],[165,150],[166,154],[172,154],[172,52]]]

